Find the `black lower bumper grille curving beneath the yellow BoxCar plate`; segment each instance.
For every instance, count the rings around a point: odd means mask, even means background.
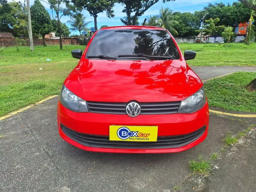
[[[202,136],[205,131],[205,126],[195,132],[185,135],[157,137],[157,141],[155,142],[110,141],[109,136],[79,133],[62,124],[61,129],[69,138],[87,147],[115,149],[166,149],[182,147],[195,141]]]

